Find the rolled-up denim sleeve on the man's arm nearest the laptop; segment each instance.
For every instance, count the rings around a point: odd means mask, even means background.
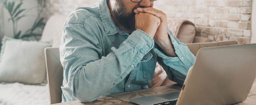
[[[178,57],[166,56],[157,44],[154,45],[154,50],[158,55],[158,63],[164,68],[168,78],[182,85],[186,79],[188,69],[193,66],[196,57],[186,44],[181,43],[172,35],[170,30],[168,30],[168,35]]]

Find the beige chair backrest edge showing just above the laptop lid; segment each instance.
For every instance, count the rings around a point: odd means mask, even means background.
[[[233,44],[238,44],[238,41],[229,40],[229,41],[219,41],[219,42],[209,42],[209,43],[189,43],[186,45],[190,49],[191,53],[193,53],[194,56],[196,56],[197,51],[201,48],[223,46],[223,45],[233,45]]]

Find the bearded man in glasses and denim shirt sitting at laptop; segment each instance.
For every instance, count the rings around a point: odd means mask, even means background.
[[[183,84],[195,56],[167,29],[166,15],[150,0],[100,0],[74,10],[60,45],[62,101],[148,88],[156,62]]]

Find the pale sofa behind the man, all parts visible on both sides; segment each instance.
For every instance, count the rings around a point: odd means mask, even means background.
[[[52,42],[52,47],[59,47],[62,37],[63,25],[68,16],[63,14],[54,14],[44,27],[41,41]],[[168,20],[169,29],[174,33],[175,37],[180,38],[181,42],[209,42],[210,40],[203,37],[195,36],[196,27],[193,23],[187,20]],[[191,36],[185,32],[187,29]],[[192,33],[192,34],[191,34]],[[187,35],[186,37],[182,35]],[[189,38],[188,38],[189,37]],[[156,75],[158,74],[158,75]],[[164,75],[165,74],[165,75]],[[160,76],[159,76],[160,75]],[[156,76],[156,77],[155,77]],[[160,79],[157,78],[160,77]],[[156,66],[154,80],[149,84],[149,87],[157,87],[173,84],[172,81],[166,78],[166,73],[159,64]],[[169,80],[169,81],[168,81]],[[156,82],[158,81],[158,82]],[[164,82],[165,81],[165,82]],[[153,84],[156,82],[157,84]],[[151,86],[150,86],[151,85]],[[49,105],[49,89],[48,84],[21,84],[21,83],[0,83],[0,105]]]

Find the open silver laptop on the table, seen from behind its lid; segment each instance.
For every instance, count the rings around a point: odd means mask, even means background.
[[[141,105],[230,105],[244,101],[256,77],[256,44],[198,51],[181,91],[130,99]]]

